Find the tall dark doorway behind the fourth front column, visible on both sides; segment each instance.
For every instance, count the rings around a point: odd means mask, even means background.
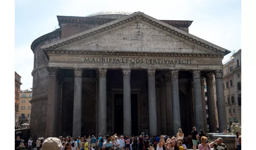
[[[132,134],[138,134],[137,94],[131,95]],[[123,94],[114,95],[114,132],[123,134]]]

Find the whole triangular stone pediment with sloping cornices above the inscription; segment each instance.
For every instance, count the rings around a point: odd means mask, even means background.
[[[42,49],[220,54],[230,52],[137,12],[45,45]]]

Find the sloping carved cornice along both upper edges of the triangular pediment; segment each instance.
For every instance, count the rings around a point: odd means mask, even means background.
[[[157,19],[155,19],[151,16],[148,16],[144,13],[141,13],[141,12],[136,12],[136,13],[130,14],[129,16],[114,20],[107,24],[103,24],[103,25],[95,27],[93,29],[70,36],[68,38],[64,38],[57,42],[47,44],[45,46],[42,46],[41,48],[42,49],[58,49],[60,47],[66,46],[68,44],[72,44],[72,43],[80,41],[82,39],[89,38],[89,37],[99,34],[101,32],[110,31],[111,29],[116,28],[118,26],[123,26],[124,24],[126,24],[128,22],[139,21],[139,20],[146,22],[152,26],[155,26],[156,28],[161,29],[162,31],[168,32],[171,35],[173,35],[174,37],[183,39],[191,44],[195,44],[204,49],[208,49],[211,52],[218,53],[218,54],[225,53],[225,51],[230,52],[227,49],[221,48],[220,46],[214,45],[208,41],[204,41],[203,39],[200,39],[194,35],[191,35],[187,32],[177,29],[171,25],[168,25],[167,23],[164,23],[160,20],[157,20]]]

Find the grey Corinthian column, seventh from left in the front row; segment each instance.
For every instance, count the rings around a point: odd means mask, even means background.
[[[204,130],[203,106],[201,95],[201,70],[193,70],[194,101],[195,101],[195,126],[198,130]]]

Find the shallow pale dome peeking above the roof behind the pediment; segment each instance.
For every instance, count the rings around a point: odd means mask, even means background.
[[[129,11],[123,11],[123,10],[107,10],[107,11],[100,11],[97,13],[92,13],[85,17],[91,17],[91,18],[111,18],[111,19],[119,19],[123,18],[125,16],[128,16],[132,14]]]

